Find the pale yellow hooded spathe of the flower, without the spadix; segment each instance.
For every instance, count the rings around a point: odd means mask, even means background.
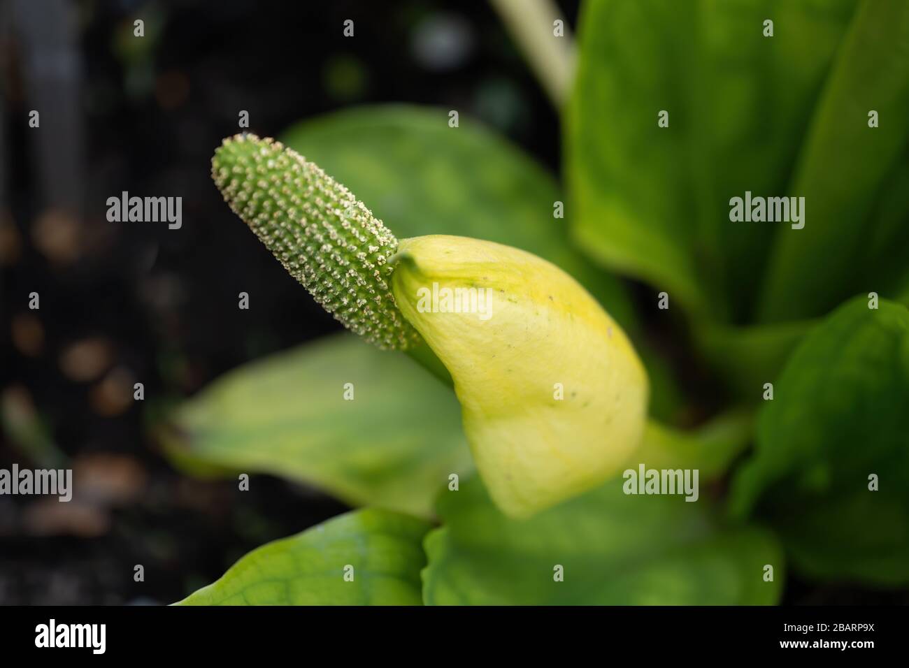
[[[524,517],[618,474],[640,444],[644,366],[554,264],[458,236],[403,239],[392,285],[454,380],[494,502]]]

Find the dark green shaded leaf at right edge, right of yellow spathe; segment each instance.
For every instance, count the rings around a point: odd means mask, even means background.
[[[879,476],[879,491],[869,476]],[[909,310],[858,297],[805,337],[759,418],[734,513],[817,578],[909,583]]]

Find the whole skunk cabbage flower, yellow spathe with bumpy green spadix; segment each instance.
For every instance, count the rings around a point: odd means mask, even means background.
[[[457,236],[399,243],[343,185],[272,139],[225,139],[212,177],[348,329],[443,377],[434,367],[445,364],[479,472],[505,513],[530,515],[580,494],[640,443],[644,367],[619,326],[554,264]]]

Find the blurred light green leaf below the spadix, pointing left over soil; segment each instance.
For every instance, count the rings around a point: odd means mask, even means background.
[[[454,393],[405,355],[349,334],[226,374],[160,435],[179,464],[274,474],[422,516],[449,474],[473,470]]]

